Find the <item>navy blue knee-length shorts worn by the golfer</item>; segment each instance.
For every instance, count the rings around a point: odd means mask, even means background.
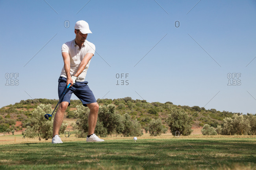
[[[59,82],[58,94],[60,99],[61,95],[64,93],[65,88],[67,88],[67,84],[66,84],[67,78],[59,77],[58,82]],[[83,106],[85,107],[87,107],[86,104],[97,102],[93,95],[93,92],[91,91],[87,83],[88,83],[87,81],[83,81],[83,82],[76,82],[75,84],[73,84],[72,87],[69,87],[63,99],[60,102],[69,102],[69,105],[70,105],[70,98],[72,93],[74,93],[76,97],[78,97],[78,99],[82,101]]]

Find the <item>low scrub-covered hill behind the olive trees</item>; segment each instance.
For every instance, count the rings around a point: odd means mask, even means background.
[[[210,124],[213,127],[217,127],[217,125],[223,123],[225,117],[232,117],[234,114],[227,111],[220,112],[215,109],[206,110],[199,106],[177,106],[172,102],[149,103],[145,100],[133,100],[131,97],[113,100],[98,99],[97,102],[100,105],[115,104],[117,113],[130,114],[133,119],[137,119],[141,123],[142,127],[148,124],[152,119],[161,119],[161,117],[166,119],[173,108],[184,110],[188,113],[193,120],[193,127],[202,127],[204,124]],[[56,99],[28,99],[26,101],[22,100],[19,103],[4,106],[0,108],[0,124],[4,124],[5,126],[9,125],[11,129],[15,129],[16,131],[22,130],[22,127],[25,127],[26,122],[29,121],[31,113],[39,104],[52,104],[52,108],[54,109],[57,103],[58,100]],[[75,121],[76,117],[74,110],[76,110],[76,105],[81,104],[82,102],[80,100],[71,100],[70,106],[65,113],[65,118],[74,118]],[[161,120],[165,124],[163,119]]]

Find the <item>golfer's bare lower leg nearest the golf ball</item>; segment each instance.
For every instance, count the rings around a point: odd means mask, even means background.
[[[91,135],[94,133],[94,129],[97,123],[99,105],[97,102],[86,104],[86,105],[90,109],[90,113],[88,117],[88,125],[89,125],[88,135]]]

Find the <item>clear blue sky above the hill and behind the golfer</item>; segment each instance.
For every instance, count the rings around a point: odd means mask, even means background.
[[[86,77],[96,99],[256,113],[255,0],[87,2],[0,0],[0,107],[58,99],[61,46],[74,39],[76,21],[85,20],[97,52]],[[19,73],[19,85],[6,86],[6,73]],[[117,73],[128,73],[129,85],[116,85]],[[241,85],[228,86],[228,73],[241,73]]]

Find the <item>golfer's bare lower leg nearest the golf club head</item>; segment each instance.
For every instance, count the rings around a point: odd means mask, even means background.
[[[55,135],[59,135],[59,129],[63,122],[64,113],[67,110],[68,106],[69,102],[61,102],[59,104],[59,108],[54,116],[52,137],[54,137]]]

